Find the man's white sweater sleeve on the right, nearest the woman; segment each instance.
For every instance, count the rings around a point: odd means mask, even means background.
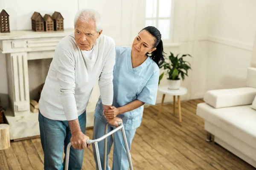
[[[112,105],[113,102],[113,67],[116,58],[115,43],[112,42],[109,48],[108,58],[99,77],[99,91],[103,105]]]

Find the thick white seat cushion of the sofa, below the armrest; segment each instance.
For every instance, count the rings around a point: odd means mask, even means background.
[[[250,105],[215,109],[200,103],[196,114],[256,148],[256,111]]]

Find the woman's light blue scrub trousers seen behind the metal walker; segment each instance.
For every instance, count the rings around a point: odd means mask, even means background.
[[[105,121],[100,120],[96,117],[94,118],[93,139],[98,139],[99,137],[105,135],[105,124],[106,124]],[[110,132],[114,128],[116,127],[112,127],[108,125],[108,132]],[[134,138],[135,133],[136,133],[136,129],[125,130],[129,150],[131,150],[131,142]],[[129,162],[128,162],[125,143],[124,143],[121,130],[118,130],[116,133],[113,134],[113,136],[112,135],[108,136],[107,168],[106,169],[110,170],[109,163],[108,163],[108,159],[109,159],[108,155],[110,153],[112,144],[114,144],[112,170],[128,170]],[[99,146],[99,156],[101,161],[100,163],[103,169],[104,168],[104,140],[99,142],[98,146]],[[93,145],[93,154],[94,154],[95,162],[97,162],[94,145]],[[97,166],[96,166],[96,170],[98,170]]]

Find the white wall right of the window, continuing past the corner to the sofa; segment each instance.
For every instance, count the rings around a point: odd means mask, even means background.
[[[255,0],[180,0],[177,51],[193,56],[192,71],[182,83],[189,89],[185,99],[245,86],[247,67],[256,67],[255,8]]]

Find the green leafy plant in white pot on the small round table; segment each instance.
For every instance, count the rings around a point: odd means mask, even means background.
[[[168,62],[163,62],[159,68],[163,68],[166,71],[167,79],[169,81],[168,88],[171,90],[177,90],[180,88],[180,78],[182,80],[185,79],[185,76],[188,76],[188,70],[191,69],[191,65],[188,61],[184,61],[183,58],[186,56],[192,57],[189,54],[183,54],[181,57],[179,54],[177,56],[174,56],[172,52],[170,52],[171,55],[169,56]],[[159,76],[159,83],[160,80],[163,78],[165,72],[163,72]]]

